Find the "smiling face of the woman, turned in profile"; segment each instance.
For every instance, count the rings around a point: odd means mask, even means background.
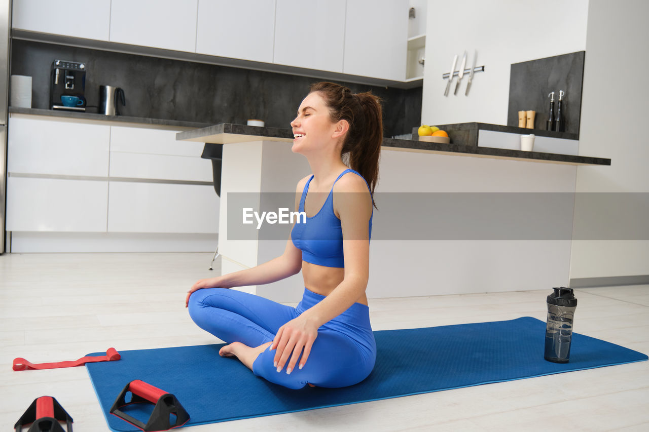
[[[293,128],[293,152],[304,153],[323,149],[336,132],[336,124],[332,123],[329,108],[324,103],[320,93],[309,93],[297,111],[297,117],[291,121]]]

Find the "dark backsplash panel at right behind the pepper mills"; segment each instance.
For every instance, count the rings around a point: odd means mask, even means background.
[[[548,93],[554,91],[556,115],[559,90],[563,90],[565,91],[563,98],[565,132],[579,135],[584,57],[585,51],[578,51],[512,64],[509,75],[507,125],[519,125],[519,111],[534,110],[536,111],[535,129],[545,130],[550,110]]]

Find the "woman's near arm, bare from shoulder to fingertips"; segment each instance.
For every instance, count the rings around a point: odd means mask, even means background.
[[[345,175],[334,186],[334,210],[343,229],[345,277],[343,281],[317,305],[280,328],[271,349],[276,347],[278,370],[288,362],[287,372],[293,370],[304,349],[299,367],[308,359],[317,330],[325,322],[337,317],[359,300],[369,278],[369,219],[372,200],[365,181],[357,175]]]

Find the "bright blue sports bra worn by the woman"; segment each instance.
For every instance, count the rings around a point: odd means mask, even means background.
[[[361,174],[353,169],[346,169],[336,178],[334,185],[345,173],[354,173],[363,178]],[[309,190],[311,180],[313,180],[313,176],[304,185],[304,191],[302,191],[302,197],[300,198],[299,211],[304,211],[304,200],[306,200],[306,193]],[[369,186],[367,188],[369,189]],[[372,216],[369,218],[370,237],[372,236],[373,216],[374,208],[372,209]],[[334,186],[331,187],[331,191],[320,211],[313,217],[307,217],[306,223],[296,223],[293,226],[291,240],[295,247],[302,250],[302,260],[312,264],[323,265],[324,267],[345,267],[345,259],[343,257],[343,230],[340,219],[334,213]]]

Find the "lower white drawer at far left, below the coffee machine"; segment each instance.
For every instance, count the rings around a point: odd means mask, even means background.
[[[108,180],[9,176],[6,230],[106,232]]]

